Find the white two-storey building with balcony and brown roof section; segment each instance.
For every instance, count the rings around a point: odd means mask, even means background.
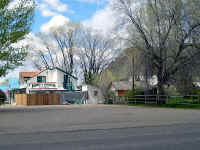
[[[20,72],[20,88],[26,93],[41,91],[76,91],[77,78],[54,67],[40,72]]]

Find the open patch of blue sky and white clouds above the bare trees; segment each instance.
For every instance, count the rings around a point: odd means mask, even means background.
[[[33,33],[48,32],[68,21],[83,22],[98,29],[113,25],[109,0],[37,0]]]

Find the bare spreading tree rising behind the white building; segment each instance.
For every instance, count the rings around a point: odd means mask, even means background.
[[[72,74],[75,69],[74,55],[79,39],[79,24],[68,23],[60,28],[53,29],[50,34],[40,33],[44,49],[37,51],[40,60],[35,60],[37,68],[60,67]],[[34,49],[34,48],[33,48]]]

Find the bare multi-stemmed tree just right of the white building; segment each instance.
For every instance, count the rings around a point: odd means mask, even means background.
[[[79,61],[86,83],[91,84],[96,75],[110,64],[114,58],[113,41],[91,30],[82,32]]]

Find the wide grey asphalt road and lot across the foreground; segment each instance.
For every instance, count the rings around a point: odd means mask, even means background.
[[[127,106],[0,108],[0,150],[199,150],[200,111]]]

